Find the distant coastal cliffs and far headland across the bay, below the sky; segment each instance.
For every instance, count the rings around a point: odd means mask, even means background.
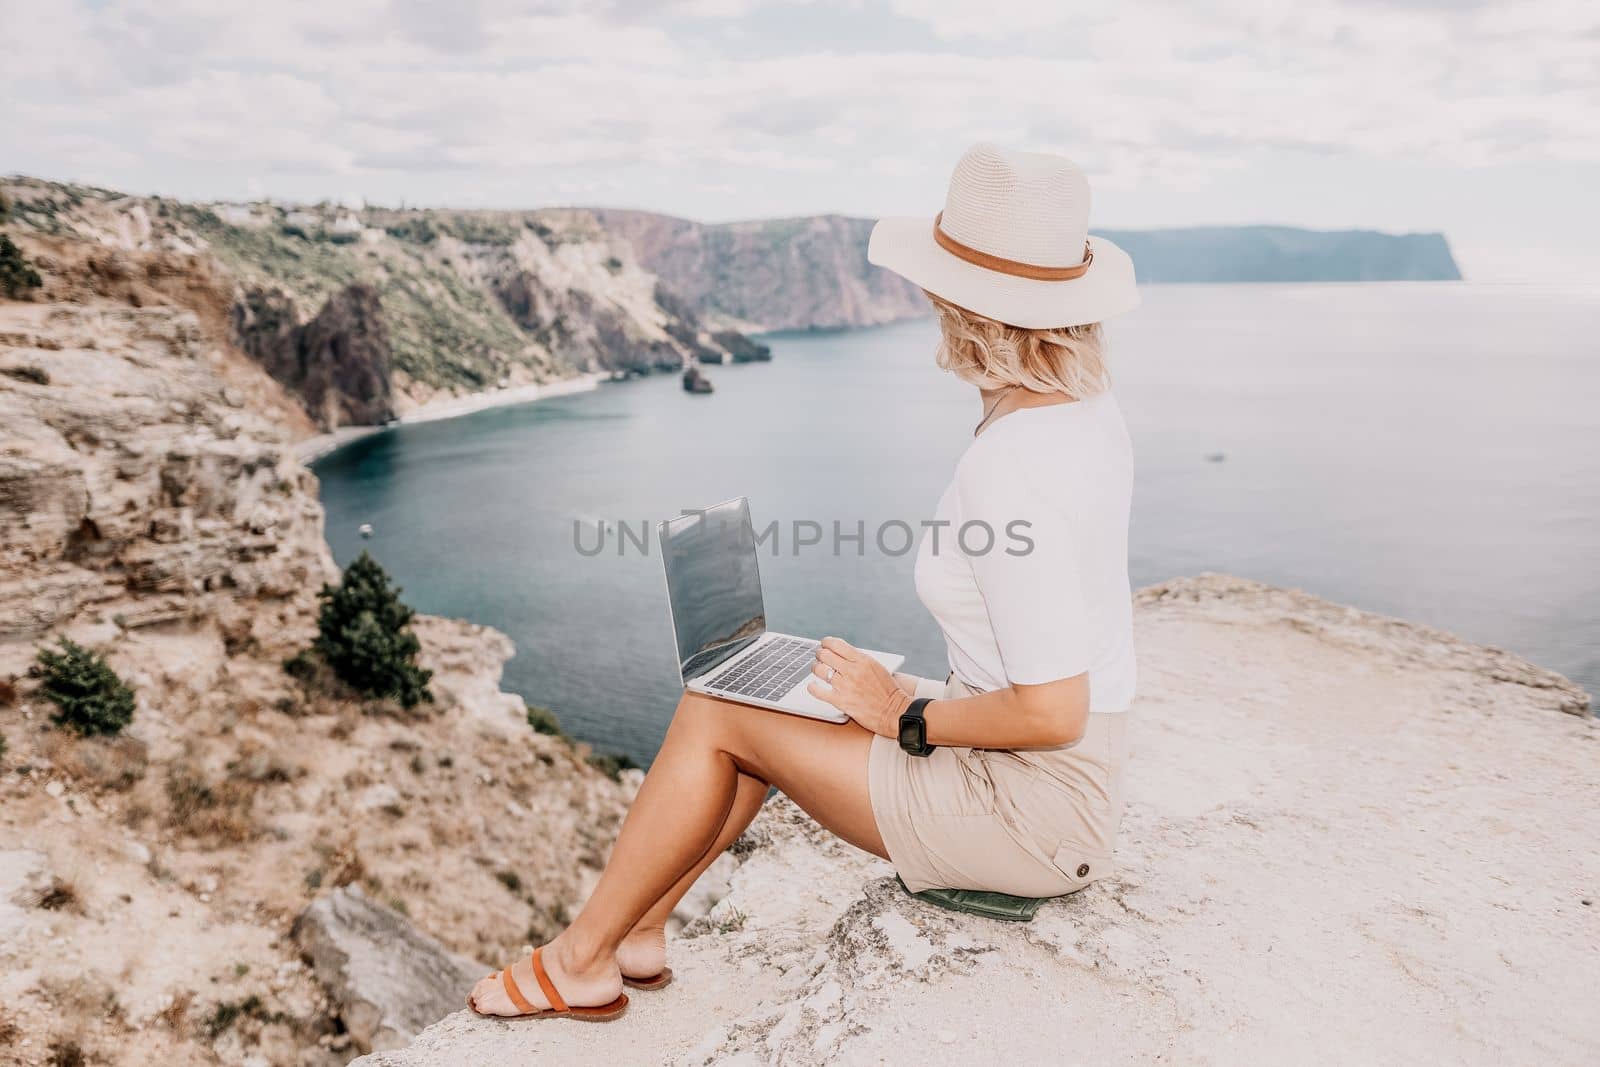
[[[928,310],[866,258],[870,219],[702,224],[645,211],[181,203],[0,181],[45,267],[93,250],[93,288],[173,296],[230,328],[320,430],[582,373],[765,358],[739,331],[869,326]],[[1112,232],[1142,282],[1459,278],[1438,234]],[[67,253],[70,256],[70,253]],[[78,285],[78,282],[74,282]]]

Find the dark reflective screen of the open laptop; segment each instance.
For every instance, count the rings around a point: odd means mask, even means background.
[[[661,523],[661,558],[685,681],[766,632],[746,498]]]

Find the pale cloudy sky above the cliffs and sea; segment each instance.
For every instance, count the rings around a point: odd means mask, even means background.
[[[1093,226],[1442,230],[1600,285],[1594,0],[0,0],[0,173],[139,194],[933,214],[974,141]]]

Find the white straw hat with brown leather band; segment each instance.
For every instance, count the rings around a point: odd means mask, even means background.
[[[1139,304],[1128,253],[1090,237],[1090,181],[1061,155],[966,149],[936,218],[882,219],[867,259],[957,307],[1027,330]]]

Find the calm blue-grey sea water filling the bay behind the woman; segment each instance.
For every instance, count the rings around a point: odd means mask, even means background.
[[[506,685],[646,760],[678,689],[661,561],[573,522],[746,494],[771,625],[942,673],[912,557],[790,523],[931,514],[978,419],[934,330],[778,334],[770,365],[398,427],[317,466],[341,563],[518,648]],[[1501,645],[1600,688],[1600,294],[1472,285],[1152,286],[1114,323],[1139,475],[1133,574],[1230,571]],[[1216,461],[1213,456],[1221,454]],[[363,542],[360,523],[376,536]],[[624,661],[626,653],[626,661]]]

